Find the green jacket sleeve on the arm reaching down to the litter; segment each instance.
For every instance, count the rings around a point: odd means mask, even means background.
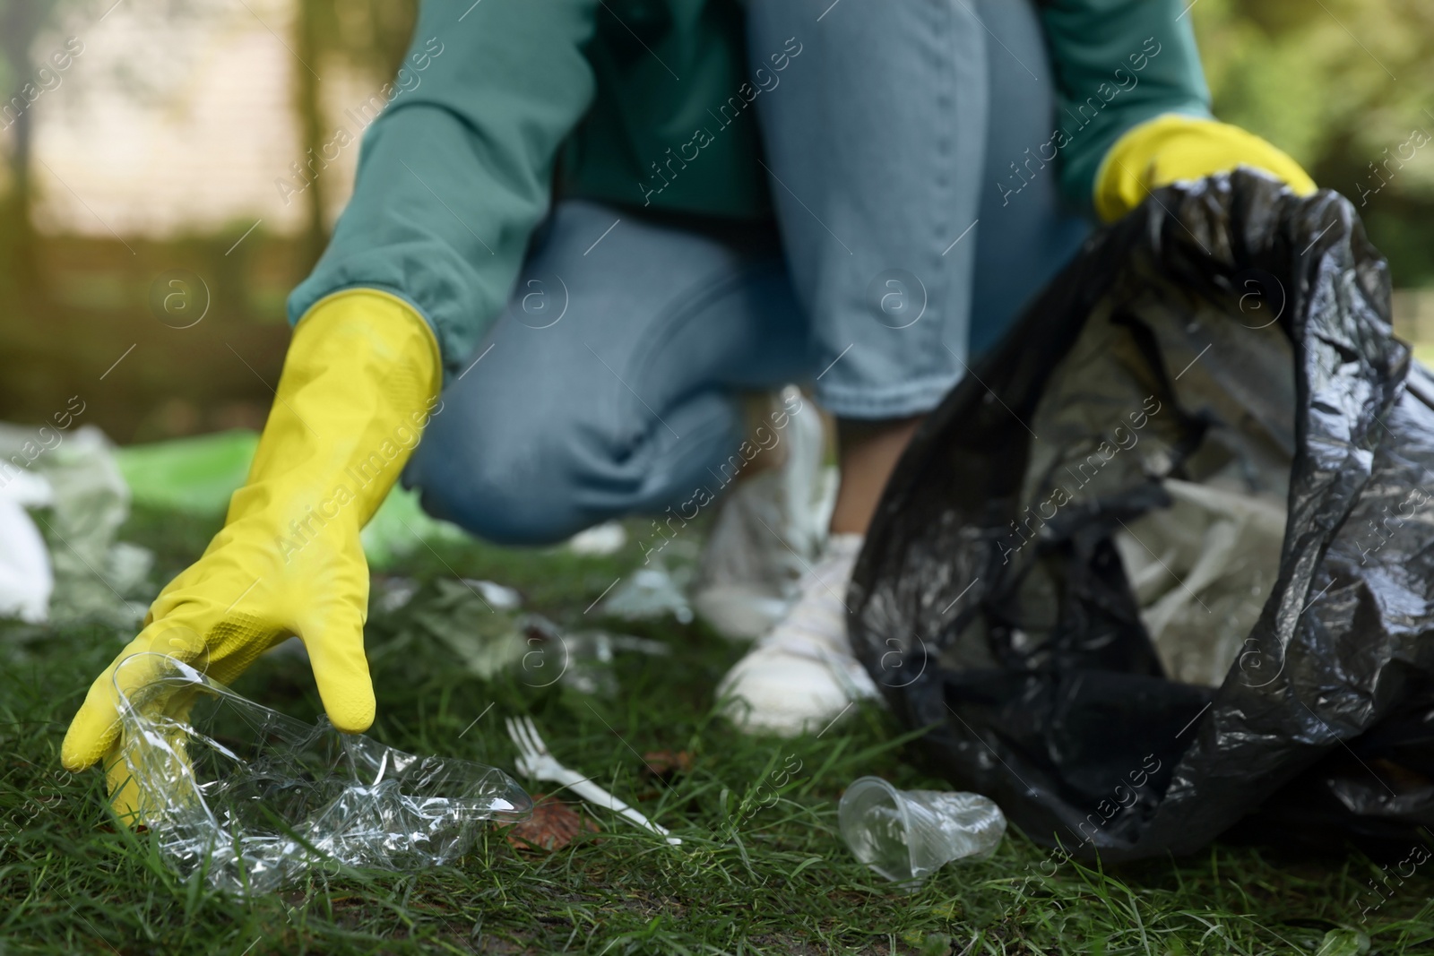
[[[354,195],[297,322],[344,288],[391,292],[427,320],[447,374],[506,305],[548,211],[554,162],[592,102],[584,53],[599,0],[424,0],[387,107],[369,120]],[[381,100],[380,100],[381,102]]]

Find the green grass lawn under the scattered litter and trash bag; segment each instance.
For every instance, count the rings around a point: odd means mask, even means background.
[[[178,570],[212,527],[143,515],[126,536]],[[566,625],[631,562],[472,545],[420,552],[412,573],[513,585]],[[627,549],[635,553],[635,549]],[[1434,867],[1384,889],[1380,869],[1331,849],[1291,857],[1216,846],[1182,860],[1058,867],[1012,833],[984,861],[948,866],[902,893],[855,863],[836,800],[862,774],[941,787],[912,770],[912,744],[876,708],[820,738],[749,738],[713,717],[713,687],[740,655],[700,625],[621,629],[673,645],[622,655],[619,692],[492,682],[457,671],[409,628],[414,605],[369,628],[379,692],[371,734],[397,747],[512,768],[502,717],[531,714],[556,755],[673,827],[683,847],[597,811],[602,831],[545,856],[489,830],[442,870],[313,877],[248,902],[178,879],[146,834],[116,828],[96,773],[57,754],[93,674],[120,646],[102,628],[0,629],[0,956],[9,953],[1402,953],[1434,947]],[[595,612],[594,612],[595,613]],[[589,615],[591,616],[591,615]],[[597,622],[592,622],[597,623]],[[609,625],[612,622],[608,622]],[[262,659],[237,688],[297,717],[318,712],[301,665]],[[482,720],[473,720],[483,714]],[[465,730],[467,728],[467,730]],[[650,750],[688,750],[670,785],[644,775]],[[784,785],[782,770],[800,761]],[[542,788],[542,784],[533,788]]]

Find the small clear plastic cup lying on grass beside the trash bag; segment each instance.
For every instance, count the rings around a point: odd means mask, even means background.
[[[842,794],[842,838],[856,859],[896,883],[919,881],[961,857],[988,857],[1005,816],[981,794],[896,790],[860,777]]]

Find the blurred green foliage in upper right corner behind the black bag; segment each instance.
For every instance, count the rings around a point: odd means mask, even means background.
[[[1434,4],[1197,0],[1190,16],[1216,115],[1349,196],[1395,285],[1434,284]]]

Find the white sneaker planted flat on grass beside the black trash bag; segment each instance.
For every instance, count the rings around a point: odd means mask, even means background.
[[[876,697],[846,635],[846,585],[862,535],[832,535],[786,618],[717,685],[726,715],[749,734],[820,731],[853,701]]]

